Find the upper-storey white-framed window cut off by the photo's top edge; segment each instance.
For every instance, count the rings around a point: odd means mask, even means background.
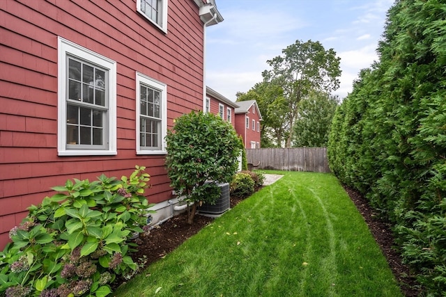
[[[167,0],[137,0],[137,11],[167,33]]]

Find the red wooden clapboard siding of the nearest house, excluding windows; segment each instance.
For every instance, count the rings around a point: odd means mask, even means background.
[[[136,0],[0,1],[0,248],[49,187],[146,166],[150,202],[170,198],[164,156],[136,154],[136,72],[167,84],[168,127],[203,106],[203,22],[193,0],[169,0],[168,33]],[[116,156],[58,156],[57,38],[117,63]]]

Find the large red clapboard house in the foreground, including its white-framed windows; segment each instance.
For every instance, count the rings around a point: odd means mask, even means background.
[[[0,20],[0,248],[50,187],[135,165],[168,216],[164,136],[205,104],[214,0],[1,0]]]

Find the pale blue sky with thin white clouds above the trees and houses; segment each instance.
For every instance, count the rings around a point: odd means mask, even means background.
[[[295,40],[319,41],[341,57],[345,97],[361,69],[378,60],[376,47],[393,0],[216,0],[224,18],[206,29],[206,85],[236,100],[262,81],[267,60]]]

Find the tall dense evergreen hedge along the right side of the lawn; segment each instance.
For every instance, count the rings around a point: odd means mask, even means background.
[[[330,168],[394,224],[426,293],[445,296],[445,1],[396,1],[378,54],[334,115]]]

